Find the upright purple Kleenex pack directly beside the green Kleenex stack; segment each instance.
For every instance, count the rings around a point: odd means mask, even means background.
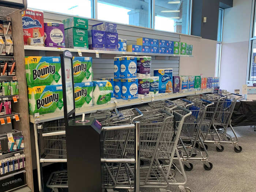
[[[95,50],[106,50],[106,32],[90,30],[88,33],[89,48]]]

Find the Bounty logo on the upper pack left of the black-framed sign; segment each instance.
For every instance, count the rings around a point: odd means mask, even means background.
[[[45,61],[39,63],[35,69],[33,69],[33,80],[35,79],[46,79],[50,74],[55,74],[55,65],[49,65]]]

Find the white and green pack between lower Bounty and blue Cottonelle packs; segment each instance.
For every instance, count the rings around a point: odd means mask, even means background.
[[[93,81],[93,104],[102,105],[111,100],[112,84],[107,80]]]

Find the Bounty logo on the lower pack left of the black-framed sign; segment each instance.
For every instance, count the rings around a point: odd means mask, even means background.
[[[59,101],[59,93],[52,93],[52,91],[46,91],[41,95],[39,99],[36,100],[37,109],[49,108],[52,106],[53,102]]]

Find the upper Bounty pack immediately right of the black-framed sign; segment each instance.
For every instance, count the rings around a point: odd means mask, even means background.
[[[93,72],[91,57],[73,57],[74,83],[91,82]]]

